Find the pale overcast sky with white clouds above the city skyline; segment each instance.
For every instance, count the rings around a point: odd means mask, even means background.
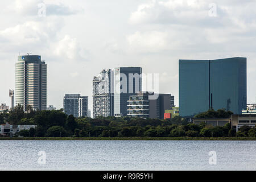
[[[102,69],[142,67],[179,105],[179,59],[247,57],[247,103],[256,102],[256,1],[0,1],[0,103],[10,105],[18,55],[47,64],[47,105],[89,96]],[[45,9],[44,9],[45,7]]]

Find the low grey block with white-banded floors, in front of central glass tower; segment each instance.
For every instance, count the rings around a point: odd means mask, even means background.
[[[140,92],[130,96],[127,101],[127,115],[140,118],[164,119],[164,110],[170,109],[171,94],[159,94],[157,99],[150,99],[154,93]]]

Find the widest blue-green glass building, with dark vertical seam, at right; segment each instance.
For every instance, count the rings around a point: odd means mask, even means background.
[[[246,58],[179,60],[179,111],[192,118],[209,109],[246,110]]]

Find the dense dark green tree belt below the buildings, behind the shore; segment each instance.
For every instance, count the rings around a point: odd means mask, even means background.
[[[212,111],[211,111],[212,112]],[[223,114],[223,111],[220,111]],[[225,111],[224,111],[224,114]],[[172,119],[143,119],[131,117],[81,117],[63,113],[63,110],[32,110],[24,112],[17,105],[9,113],[0,113],[0,123],[11,125],[36,125],[35,129],[22,130],[23,137],[255,137],[256,130],[249,126],[240,131],[230,124],[211,126],[195,125],[181,117]]]

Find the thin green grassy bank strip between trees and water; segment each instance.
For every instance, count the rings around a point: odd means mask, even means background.
[[[0,140],[226,140],[255,141],[256,137],[0,137]]]

